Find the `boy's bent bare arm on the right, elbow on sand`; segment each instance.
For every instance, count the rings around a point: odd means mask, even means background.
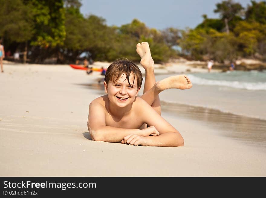
[[[169,124],[161,115],[159,115],[147,102],[140,98],[138,103],[140,115],[144,123],[148,126],[154,126],[160,133],[158,136],[136,137],[144,141],[145,146],[183,146],[184,139],[181,134],[171,124]],[[128,137],[125,137],[128,138]],[[129,140],[132,137],[128,138]],[[126,140],[123,139],[125,142]],[[134,142],[134,140],[133,140]]]

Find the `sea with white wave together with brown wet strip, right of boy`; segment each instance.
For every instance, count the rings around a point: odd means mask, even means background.
[[[156,80],[177,75],[156,75]],[[188,90],[160,93],[162,114],[189,118],[216,133],[266,147],[266,71],[188,73]],[[184,120],[185,121],[185,120]]]

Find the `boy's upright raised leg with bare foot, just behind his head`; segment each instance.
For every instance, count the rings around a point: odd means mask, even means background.
[[[137,44],[137,52],[138,55],[141,57],[141,66],[145,69],[145,83],[144,83],[144,90],[143,95],[141,96],[146,102],[148,102],[154,110],[161,115],[161,103],[160,98],[158,95],[154,95],[153,97],[149,98],[149,94],[145,94],[148,90],[151,90],[155,83],[155,76],[154,76],[154,61],[151,57],[150,46],[148,42],[141,42]]]

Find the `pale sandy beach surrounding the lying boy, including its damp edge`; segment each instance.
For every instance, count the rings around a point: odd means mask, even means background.
[[[162,103],[162,116],[180,131],[183,147],[96,142],[90,140],[87,118],[89,103],[104,94],[99,73],[87,75],[69,65],[12,62],[4,62],[4,71],[0,74],[2,177],[266,176],[264,119],[197,108],[191,92],[187,98],[180,96],[175,108]],[[156,74],[188,71],[206,69],[185,64],[155,68]],[[198,88],[193,85],[191,90]],[[170,97],[167,92],[161,96],[166,97]]]

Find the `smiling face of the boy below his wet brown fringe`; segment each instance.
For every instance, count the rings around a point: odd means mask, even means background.
[[[140,87],[137,85],[137,79],[135,78],[134,84],[133,80],[134,74],[131,73],[129,76],[130,84],[128,84],[126,74],[121,75],[117,82],[109,81],[108,85],[104,82],[105,92],[108,94],[110,102],[118,107],[132,104],[140,90]]]

